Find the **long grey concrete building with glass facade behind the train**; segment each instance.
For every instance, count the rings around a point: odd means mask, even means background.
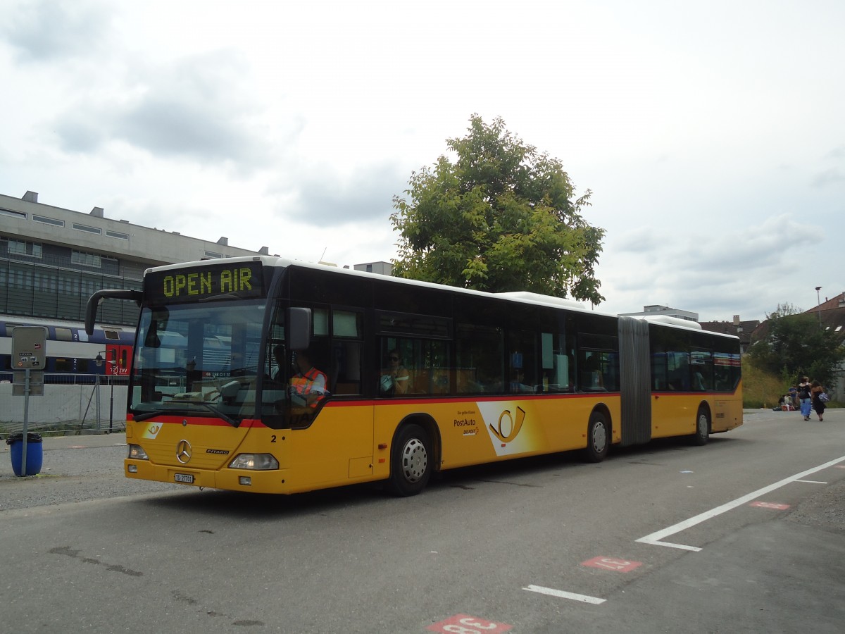
[[[269,254],[228,242],[113,220],[101,207],[86,214],[44,205],[35,192],[0,194],[0,314],[82,321],[93,292],[140,288],[150,266]],[[137,317],[131,302],[102,306],[107,324],[134,325]]]

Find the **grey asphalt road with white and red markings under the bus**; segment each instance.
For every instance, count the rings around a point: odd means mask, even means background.
[[[122,476],[123,436],[0,454],[4,631],[839,632],[845,411],[376,485],[243,495]],[[7,449],[6,445],[3,445]]]

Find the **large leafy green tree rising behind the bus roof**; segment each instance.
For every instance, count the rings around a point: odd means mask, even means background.
[[[597,304],[604,229],[581,216],[563,164],[477,114],[447,139],[453,158],[413,172],[390,216],[399,232],[393,274],[489,292],[530,291]]]

